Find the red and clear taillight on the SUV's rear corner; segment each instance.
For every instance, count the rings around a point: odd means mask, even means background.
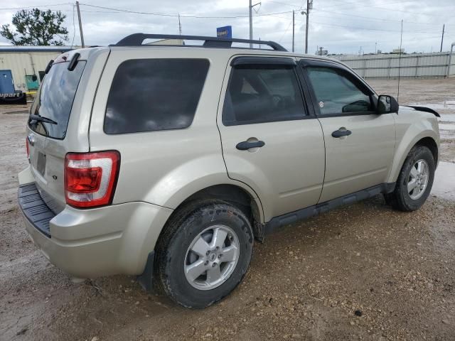
[[[109,205],[114,197],[119,166],[118,151],[66,154],[66,203],[74,207]]]

